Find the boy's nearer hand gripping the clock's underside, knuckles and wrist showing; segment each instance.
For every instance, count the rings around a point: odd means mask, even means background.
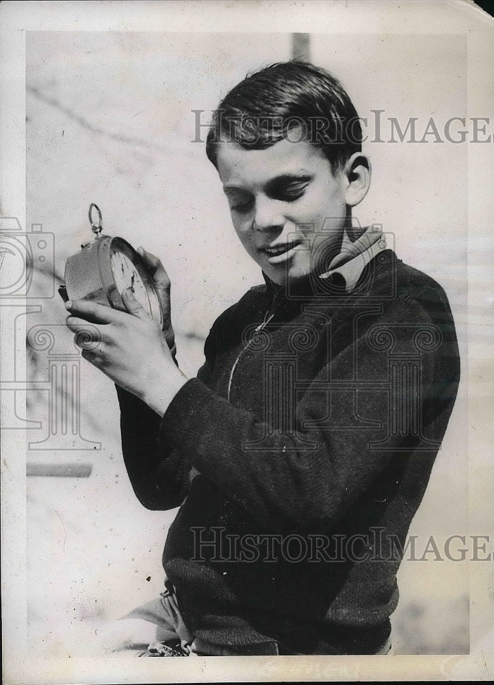
[[[187,378],[174,364],[159,324],[129,288],[122,299],[133,315],[88,300],[69,300],[66,323],[76,334],[83,358],[163,416]]]

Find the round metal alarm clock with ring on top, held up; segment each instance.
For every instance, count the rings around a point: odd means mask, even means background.
[[[94,203],[90,205],[88,216],[94,240],[81,245],[81,250],[67,259],[65,284],[59,288],[60,295],[64,300],[88,299],[127,312],[121,293],[131,288],[144,311],[161,327],[161,302],[139,253],[127,240],[101,233],[103,219]]]

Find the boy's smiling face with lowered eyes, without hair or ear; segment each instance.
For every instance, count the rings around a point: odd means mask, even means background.
[[[235,231],[272,281],[307,276],[322,258],[327,269],[343,235],[348,179],[333,175],[322,151],[305,140],[263,150],[221,142],[218,172]]]

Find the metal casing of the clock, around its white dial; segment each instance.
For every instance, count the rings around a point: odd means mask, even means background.
[[[127,312],[120,292],[116,287],[111,256],[112,250],[125,254],[138,271],[151,308],[154,321],[163,326],[163,310],[155,284],[148,274],[140,255],[132,245],[118,236],[97,236],[88,245],[70,256],[65,264],[65,287],[68,299],[89,299],[105,306],[111,306],[120,312]],[[101,283],[101,287],[94,287],[94,283]],[[151,290],[154,297],[149,297]]]

